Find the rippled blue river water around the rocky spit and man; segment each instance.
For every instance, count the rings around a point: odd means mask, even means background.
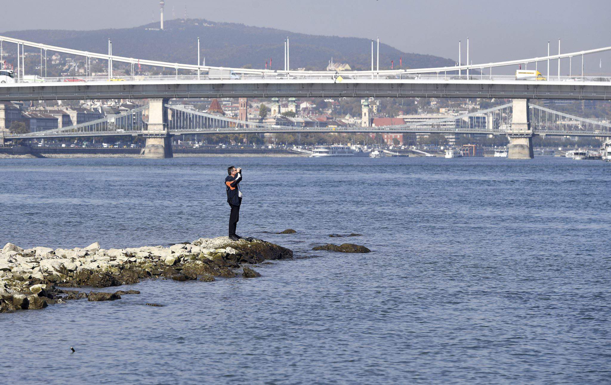
[[[231,165],[244,168],[238,233],[294,260],[258,279],[147,280],[118,301],[0,314],[0,383],[611,382],[602,161],[0,160],[0,243],[226,235]],[[328,242],[373,252],[311,250]]]

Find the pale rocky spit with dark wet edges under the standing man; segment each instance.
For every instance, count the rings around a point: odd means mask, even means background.
[[[292,257],[290,249],[256,238],[238,241],[227,237],[199,238],[169,248],[126,249],[101,249],[97,242],[73,249],[23,249],[7,243],[0,251],[0,312],[42,309],[81,298],[109,301],[139,293],[136,290],[85,293],[68,289],[81,286],[115,287],[147,278],[211,282],[214,277],[235,277],[236,268],[242,268],[244,277],[258,277],[260,274],[242,264]]]

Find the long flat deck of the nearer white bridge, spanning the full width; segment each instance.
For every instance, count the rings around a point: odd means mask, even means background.
[[[230,79],[2,84],[0,100],[210,97],[440,97],[610,100],[611,81]]]

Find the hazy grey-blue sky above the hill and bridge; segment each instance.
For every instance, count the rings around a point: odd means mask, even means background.
[[[159,21],[158,0],[1,1],[0,30],[126,28]],[[185,15],[307,34],[380,38],[399,50],[458,59],[458,40],[470,38],[475,63],[545,56],[611,46],[611,1],[408,0],[166,0],[166,20]],[[32,12],[16,12],[29,9]],[[15,11],[15,12],[13,12]],[[364,47],[367,50],[368,47]],[[586,68],[611,73],[611,53]],[[574,72],[580,60],[574,59]],[[568,60],[565,63],[568,71]],[[565,67],[563,65],[563,67]],[[552,68],[557,64],[552,64]],[[552,71],[552,74],[555,73]],[[563,70],[565,71],[565,70]]]

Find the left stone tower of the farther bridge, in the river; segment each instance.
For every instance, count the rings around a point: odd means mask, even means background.
[[[172,141],[167,125],[167,99],[148,100],[148,127],[144,158],[172,158]]]

